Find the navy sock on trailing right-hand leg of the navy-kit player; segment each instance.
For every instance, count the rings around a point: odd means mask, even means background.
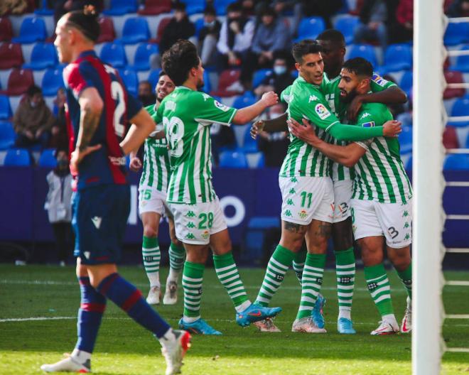
[[[142,298],[140,290],[122,278],[119,273],[112,273],[104,278],[97,287],[99,293],[122,308],[139,325],[153,332],[158,339],[171,327]]]

